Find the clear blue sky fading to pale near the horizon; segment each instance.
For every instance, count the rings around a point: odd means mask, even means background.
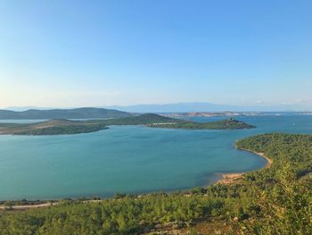
[[[312,1],[0,1],[0,107],[312,110]]]

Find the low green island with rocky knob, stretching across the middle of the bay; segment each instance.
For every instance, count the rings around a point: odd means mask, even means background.
[[[218,122],[185,122],[154,113],[104,120],[70,121],[56,119],[35,123],[0,123],[0,135],[70,135],[108,129],[112,125],[145,125],[152,128],[225,130],[254,128],[233,118]]]

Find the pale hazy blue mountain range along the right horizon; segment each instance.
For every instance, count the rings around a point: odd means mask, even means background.
[[[211,103],[175,103],[165,105],[129,105],[106,106],[130,113],[185,113],[185,112],[291,112],[308,111],[308,108],[300,104],[294,105],[216,105]]]

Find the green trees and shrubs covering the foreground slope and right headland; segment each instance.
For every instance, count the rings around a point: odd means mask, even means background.
[[[259,135],[236,147],[264,153],[273,164],[232,185],[4,212],[1,234],[206,234],[202,223],[216,234],[312,234],[312,135]]]

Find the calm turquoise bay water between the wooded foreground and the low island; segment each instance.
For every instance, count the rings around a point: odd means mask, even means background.
[[[216,118],[196,118],[207,122]],[[69,136],[0,136],[0,200],[110,197],[207,185],[220,172],[262,168],[266,161],[234,149],[239,138],[312,133],[312,115],[245,116],[252,130],[161,130],[114,126]]]

